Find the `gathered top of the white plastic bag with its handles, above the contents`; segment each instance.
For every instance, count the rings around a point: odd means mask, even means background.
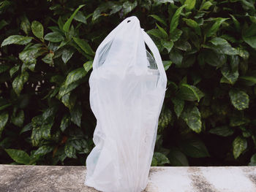
[[[148,60],[145,43],[153,53],[160,73],[158,83],[166,87],[167,77],[157,46],[143,28],[140,28],[140,21],[135,16],[123,20],[105,37],[97,48],[93,69],[113,69],[112,72],[120,77],[128,73],[146,74]]]

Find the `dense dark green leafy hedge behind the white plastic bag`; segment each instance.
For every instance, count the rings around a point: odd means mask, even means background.
[[[100,42],[136,15],[167,73],[152,166],[256,165],[255,0],[1,0],[0,164],[85,165]]]

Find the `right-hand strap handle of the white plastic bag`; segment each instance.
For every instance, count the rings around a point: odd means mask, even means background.
[[[164,83],[167,81],[167,77],[165,74],[165,68],[162,64],[162,58],[159,53],[159,50],[157,49],[157,46],[154,44],[153,40],[148,36],[148,34],[144,31],[143,28],[141,28],[141,31],[143,34],[144,42],[146,42],[146,45],[148,45],[148,48],[151,50],[156,60],[157,68],[159,69],[159,73],[160,73],[160,80]],[[164,86],[166,87],[166,83]]]

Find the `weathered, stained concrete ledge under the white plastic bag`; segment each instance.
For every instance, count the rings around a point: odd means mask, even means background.
[[[0,192],[89,191],[85,166],[0,165]],[[256,166],[151,167],[145,192],[256,192]]]

